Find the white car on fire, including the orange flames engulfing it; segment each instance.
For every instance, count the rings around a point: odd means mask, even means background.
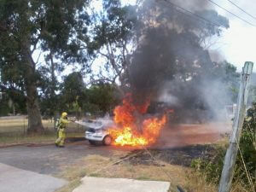
[[[85,138],[91,144],[148,146],[156,142],[160,130],[166,125],[166,114],[147,115],[148,106],[149,100],[137,104],[131,94],[127,94],[123,102],[114,108],[113,119],[105,117],[78,123],[88,128]]]

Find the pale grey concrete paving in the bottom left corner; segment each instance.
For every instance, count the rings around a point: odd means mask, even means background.
[[[67,182],[37,172],[25,171],[0,163],[1,192],[54,192]]]

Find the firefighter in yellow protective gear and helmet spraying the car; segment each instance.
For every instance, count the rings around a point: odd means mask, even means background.
[[[63,112],[61,114],[61,118],[58,121],[57,124],[57,139],[55,141],[55,146],[56,147],[60,147],[63,148],[64,147],[64,143],[65,143],[65,138],[66,138],[66,133],[65,133],[65,129],[67,127],[67,124],[69,123],[69,120],[67,120],[67,112]]]

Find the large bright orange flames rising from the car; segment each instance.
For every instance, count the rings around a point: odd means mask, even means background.
[[[156,142],[160,129],[166,124],[166,115],[142,119],[148,106],[149,99],[143,105],[135,105],[129,94],[123,104],[114,109],[114,122],[119,128],[109,130],[113,145],[145,146]]]

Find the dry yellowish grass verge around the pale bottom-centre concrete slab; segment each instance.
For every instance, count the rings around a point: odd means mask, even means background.
[[[107,158],[101,155],[87,156],[57,175],[65,178],[69,184],[56,192],[72,192],[79,186],[80,179],[85,176],[167,181],[171,183],[170,192],[177,192],[177,185],[182,186],[186,191],[216,191],[214,185],[207,183],[200,174],[195,175],[189,167],[175,166],[166,162],[159,162],[161,166],[132,165],[126,160],[114,164],[117,160],[119,158]]]

